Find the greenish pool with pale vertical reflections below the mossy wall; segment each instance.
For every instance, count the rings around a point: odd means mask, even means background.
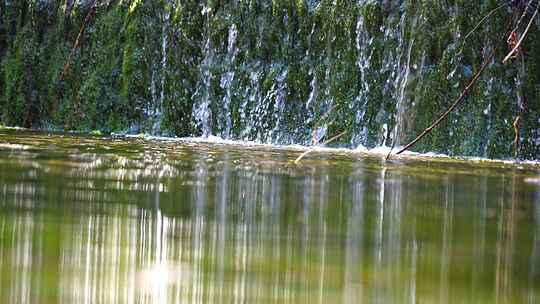
[[[539,168],[0,132],[0,303],[540,303]]]

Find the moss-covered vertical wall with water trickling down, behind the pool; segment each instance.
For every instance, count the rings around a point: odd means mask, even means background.
[[[346,131],[337,145],[403,145],[502,44],[466,102],[416,149],[511,157],[521,116],[518,155],[538,158],[540,21],[505,65],[519,8],[467,35],[498,5],[2,1],[0,122],[284,144]]]

